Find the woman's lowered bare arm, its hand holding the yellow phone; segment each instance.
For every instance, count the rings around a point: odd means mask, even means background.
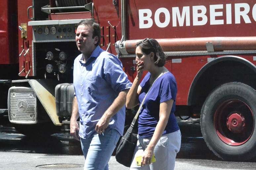
[[[155,145],[157,144],[158,140],[162,136],[163,131],[168,123],[172,105],[173,105],[173,99],[160,103],[159,121],[155,127],[155,131],[152,136],[152,139],[150,140],[149,145],[147,146],[147,148],[143,153],[142,160],[141,160],[142,166],[146,164],[150,164]]]

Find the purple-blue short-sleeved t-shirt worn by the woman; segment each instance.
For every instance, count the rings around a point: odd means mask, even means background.
[[[149,90],[151,74],[148,72],[140,86],[142,87],[139,95],[139,102],[141,103],[146,93]],[[173,99],[171,114],[168,123],[164,129],[163,134],[172,133],[179,130],[174,111],[175,100],[177,95],[177,83],[172,73],[168,72],[159,77],[151,89],[143,103],[138,120],[138,134],[142,137],[152,137],[155,127],[159,121],[160,103]]]

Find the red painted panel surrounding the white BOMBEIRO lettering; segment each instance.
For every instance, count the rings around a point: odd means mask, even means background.
[[[162,39],[162,38],[193,38],[193,37],[241,37],[241,36],[255,36],[254,27],[256,21],[252,17],[252,8],[255,4],[255,1],[252,0],[215,0],[215,1],[166,1],[158,0],[155,1],[127,1],[127,29],[129,30],[128,39],[129,40],[138,40],[144,39],[145,37]],[[235,3],[247,3],[250,5],[250,12],[248,16],[251,20],[251,23],[245,23],[241,17],[241,23],[235,24]],[[153,4],[153,5],[152,5]],[[210,9],[209,5],[218,5],[223,4],[223,9],[216,10],[216,12],[223,12],[223,16],[217,16],[216,19],[224,19],[224,25],[210,25]],[[232,4],[232,24],[226,24],[226,4]],[[206,15],[208,21],[205,25],[193,26],[192,20],[192,6],[203,5],[206,7]],[[190,26],[177,26],[173,27],[172,25],[172,7],[179,7],[180,13],[182,8],[189,6],[190,7]],[[165,28],[159,28],[154,22],[155,11],[159,8],[166,8],[170,13],[170,23]],[[140,29],[139,28],[139,13],[140,9],[150,9],[152,11],[152,20],[153,25],[151,28]],[[241,10],[242,11],[242,10]],[[164,22],[164,14],[160,14],[160,21]],[[185,24],[184,24],[185,25]],[[249,31],[251,30],[251,31]]]

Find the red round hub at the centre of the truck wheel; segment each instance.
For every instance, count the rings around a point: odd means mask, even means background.
[[[241,133],[245,128],[245,119],[242,114],[233,113],[227,117],[227,127],[233,133]]]

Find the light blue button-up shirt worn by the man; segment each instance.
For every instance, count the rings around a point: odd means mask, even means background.
[[[119,92],[130,89],[132,83],[122,70],[121,61],[97,46],[90,58],[83,60],[82,54],[74,61],[74,87],[80,116],[79,136],[89,138],[95,127]],[[123,134],[125,106],[111,119],[110,128]]]

